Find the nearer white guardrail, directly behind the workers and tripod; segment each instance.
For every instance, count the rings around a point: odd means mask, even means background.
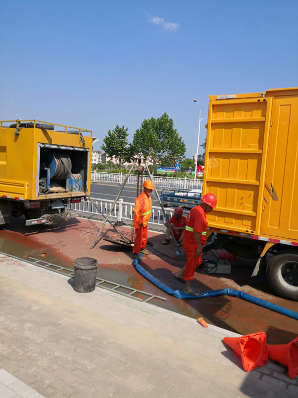
[[[100,211],[106,215],[110,208],[112,207],[113,200],[106,199],[97,199],[91,198],[96,206],[100,209]],[[111,212],[111,216],[117,217],[118,221],[122,220],[133,220],[133,208],[135,207],[135,203],[124,202],[123,199],[117,200],[115,203],[114,209]],[[93,203],[86,199],[82,200],[80,203],[71,203],[70,208],[73,210],[84,211],[86,213],[98,214],[101,215],[97,208],[93,205]],[[165,208],[166,215],[171,218],[173,215],[174,209]],[[188,211],[185,211],[188,213]],[[165,222],[165,217],[160,207],[152,206],[152,214],[149,220],[149,224],[154,225],[163,225]]]

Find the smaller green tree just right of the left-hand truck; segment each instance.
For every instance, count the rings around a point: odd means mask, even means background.
[[[124,126],[117,126],[114,130],[109,130],[108,134],[103,139],[103,144],[101,149],[110,158],[115,158],[119,161],[119,173],[121,170],[121,165],[128,160],[130,146],[128,145],[128,128]]]

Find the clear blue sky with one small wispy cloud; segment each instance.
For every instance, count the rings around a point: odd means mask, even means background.
[[[95,149],[167,112],[192,157],[192,99],[206,117],[208,95],[298,86],[297,0],[2,0],[0,15],[0,120],[91,129]]]

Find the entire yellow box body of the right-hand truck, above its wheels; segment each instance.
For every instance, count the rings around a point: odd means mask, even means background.
[[[298,241],[298,88],[210,97],[203,194],[209,226]]]

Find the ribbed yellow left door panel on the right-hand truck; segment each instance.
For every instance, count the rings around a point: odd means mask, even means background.
[[[236,96],[224,96],[236,97]],[[211,100],[203,194],[218,198],[210,227],[259,234],[271,97]]]

